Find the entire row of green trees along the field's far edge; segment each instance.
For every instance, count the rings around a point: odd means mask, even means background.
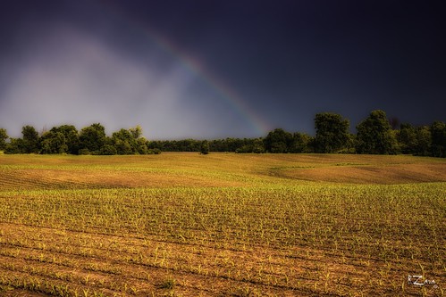
[[[393,126],[393,127],[392,127]],[[399,127],[398,127],[399,126]],[[387,119],[384,111],[372,111],[349,133],[349,120],[332,112],[315,116],[316,136],[290,133],[282,128],[265,137],[225,138],[215,140],[154,140],[142,136],[139,126],[105,135],[99,123],[78,131],[63,125],[38,133],[24,126],[21,138],[10,138],[0,128],[0,150],[4,153],[70,154],[149,154],[161,152],[235,152],[235,153],[370,153],[413,154],[446,157],[446,124],[434,121],[430,126],[398,125]]]

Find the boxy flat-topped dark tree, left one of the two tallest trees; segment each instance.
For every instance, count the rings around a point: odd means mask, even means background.
[[[336,153],[349,144],[349,120],[332,112],[317,113],[315,117],[316,153]]]

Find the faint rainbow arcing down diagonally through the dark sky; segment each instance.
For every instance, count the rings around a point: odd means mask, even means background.
[[[175,60],[181,63],[181,65],[189,70],[191,74],[201,78],[208,87],[214,90],[215,95],[220,100],[227,103],[233,111],[238,113],[242,119],[244,119],[250,128],[257,134],[257,136],[265,136],[265,134],[271,129],[270,125],[263,119],[261,119],[257,113],[242,99],[241,95],[236,89],[227,85],[223,79],[215,76],[211,71],[206,70],[206,67],[202,65],[198,59],[192,57],[190,54],[185,53],[178,45],[175,45],[168,37],[161,36],[155,29],[151,28],[142,21],[132,19],[119,7],[114,6],[110,2],[102,2],[103,8],[106,12],[112,13],[112,17],[119,17],[129,27],[128,29],[134,31],[137,30],[144,37],[147,37],[157,48],[169,54]]]

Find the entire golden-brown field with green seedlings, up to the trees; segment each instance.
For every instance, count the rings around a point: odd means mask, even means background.
[[[445,260],[444,159],[0,155],[0,296],[444,296]]]

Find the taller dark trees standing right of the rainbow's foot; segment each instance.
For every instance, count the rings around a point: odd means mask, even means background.
[[[393,126],[395,127],[392,127]],[[397,127],[399,126],[399,127]],[[265,137],[265,151],[270,153],[360,153],[413,154],[446,157],[446,124],[434,121],[430,126],[415,127],[388,120],[384,111],[372,111],[349,133],[349,120],[340,114],[324,112],[315,117],[316,136],[291,134],[274,129]]]

